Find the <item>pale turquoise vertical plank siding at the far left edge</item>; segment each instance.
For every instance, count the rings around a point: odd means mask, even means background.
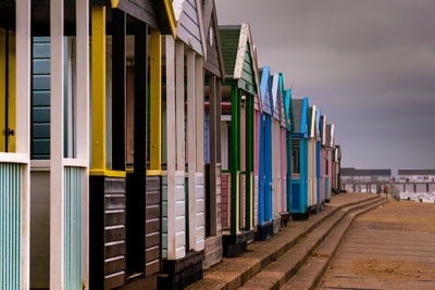
[[[0,289],[22,289],[22,165],[0,163]]]

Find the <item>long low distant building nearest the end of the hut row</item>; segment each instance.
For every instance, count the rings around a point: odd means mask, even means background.
[[[341,167],[341,181],[389,181],[391,169],[357,169],[353,167]]]

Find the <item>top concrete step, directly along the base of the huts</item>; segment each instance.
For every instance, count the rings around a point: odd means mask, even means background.
[[[382,198],[376,194],[361,193],[334,197],[331,204],[327,204],[321,213],[311,216],[308,220],[291,222],[268,241],[254,241],[248,244],[248,251],[240,256],[223,259],[203,273],[203,279],[190,285],[187,289],[236,289],[279,259],[295,244],[304,240],[311,231],[337,212],[363,206],[380,199]]]

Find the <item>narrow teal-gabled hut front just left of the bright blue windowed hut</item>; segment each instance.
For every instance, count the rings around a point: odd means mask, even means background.
[[[287,150],[287,212],[290,215],[291,211],[291,133],[295,131],[295,113],[293,110],[291,89],[285,91],[284,108],[286,115],[286,150]]]

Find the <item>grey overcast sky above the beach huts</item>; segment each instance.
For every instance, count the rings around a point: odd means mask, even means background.
[[[336,126],[343,166],[435,168],[434,0],[216,0]]]

